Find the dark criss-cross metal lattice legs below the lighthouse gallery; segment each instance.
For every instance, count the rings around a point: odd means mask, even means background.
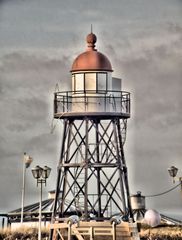
[[[64,119],[57,179],[57,191],[63,192],[60,217],[70,206],[75,206],[85,218],[91,214],[98,219],[126,214],[130,206],[123,151],[125,135],[126,119]],[[70,204],[66,207],[64,202],[68,199]],[[55,209],[57,206],[54,217]]]

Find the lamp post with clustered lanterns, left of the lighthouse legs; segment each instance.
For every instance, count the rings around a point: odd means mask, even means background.
[[[32,174],[35,179],[37,179],[37,187],[40,184],[40,202],[39,202],[39,231],[38,231],[38,240],[41,240],[41,220],[42,220],[42,184],[46,186],[46,180],[49,177],[51,168],[44,166],[36,166],[32,168]]]

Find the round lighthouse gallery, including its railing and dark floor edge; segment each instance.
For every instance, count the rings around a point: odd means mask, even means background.
[[[130,93],[125,91],[66,91],[54,95],[54,118],[130,118]]]

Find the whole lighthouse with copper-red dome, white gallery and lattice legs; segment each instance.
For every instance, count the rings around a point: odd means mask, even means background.
[[[64,129],[50,239],[64,238],[65,221],[69,227],[78,221],[93,227],[93,222],[111,226],[133,219],[123,149],[130,93],[112,77],[111,63],[97,51],[96,41],[88,34],[86,51],[74,60],[72,89],[55,92],[54,118]],[[68,235],[83,238],[78,232],[77,225]]]

